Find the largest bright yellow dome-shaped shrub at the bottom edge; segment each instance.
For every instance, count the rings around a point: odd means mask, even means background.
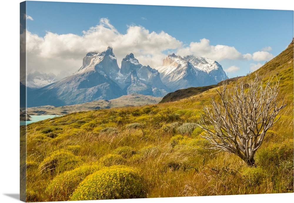
[[[126,166],[105,167],[87,176],[70,200],[129,199],[146,197],[139,173]]]

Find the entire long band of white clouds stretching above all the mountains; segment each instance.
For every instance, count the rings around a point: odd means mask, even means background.
[[[26,31],[21,38],[26,42],[21,43],[21,51],[24,52],[26,49],[28,71],[51,72],[59,77],[65,77],[66,74],[78,70],[82,66],[82,59],[86,53],[102,52],[108,46],[113,48],[118,66],[121,66],[121,61],[127,54],[133,53],[142,65],[156,68],[162,64],[162,60],[166,57],[163,52],[166,53],[170,50],[173,50],[177,55],[194,54],[218,62],[222,60],[269,61],[273,58],[273,55],[267,51],[242,54],[233,46],[214,46],[206,38],[199,42],[183,45],[181,41],[164,31],[151,32],[136,25],[128,26],[126,33],[121,34],[106,18],[100,19],[98,25],[83,31],[81,36],[71,33],[47,32],[44,37],[40,37]],[[250,67],[251,70],[255,69],[255,65]],[[225,71],[232,73],[239,69],[239,67],[230,66]],[[63,74],[60,73],[61,70]]]

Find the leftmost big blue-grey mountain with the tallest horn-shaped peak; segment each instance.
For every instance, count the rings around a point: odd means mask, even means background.
[[[102,53],[88,53],[78,71],[56,83],[31,91],[28,107],[64,106],[118,98],[126,94],[114,81],[118,71],[112,48],[108,47]]]

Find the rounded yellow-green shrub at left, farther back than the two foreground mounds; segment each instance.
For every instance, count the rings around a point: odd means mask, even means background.
[[[46,157],[39,166],[41,173],[50,172],[56,175],[64,171],[72,170],[81,165],[80,157],[73,155],[68,150],[56,150]]]

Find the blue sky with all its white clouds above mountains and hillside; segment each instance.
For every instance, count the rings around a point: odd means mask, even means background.
[[[27,47],[28,70],[41,66],[60,77],[80,68],[86,52],[107,46],[119,66],[129,52],[152,68],[168,53],[194,54],[218,61],[235,77],[259,68],[293,38],[290,10],[28,1],[27,15],[34,45]],[[61,45],[64,38],[69,47]]]

